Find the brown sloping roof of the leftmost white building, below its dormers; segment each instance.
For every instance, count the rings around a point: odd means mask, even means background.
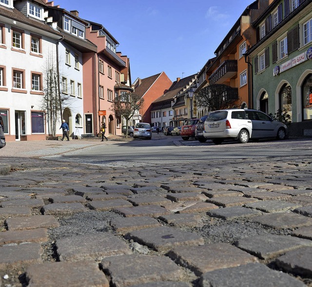
[[[6,9],[6,8],[0,7],[0,16],[4,16],[6,18],[19,21],[20,23],[27,24],[29,26],[38,28],[42,31],[49,32],[49,33],[52,33],[61,37],[61,34],[58,31],[54,30],[52,27],[50,27],[48,24],[41,22],[41,21],[37,21],[32,18],[28,18],[16,8]]]

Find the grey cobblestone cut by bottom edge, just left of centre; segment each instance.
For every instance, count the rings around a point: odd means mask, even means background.
[[[182,268],[165,256],[121,255],[105,258],[101,265],[116,287],[163,280],[183,281],[185,275]]]

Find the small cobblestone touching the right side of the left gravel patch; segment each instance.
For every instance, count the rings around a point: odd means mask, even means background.
[[[111,220],[110,224],[116,232],[123,234],[133,230],[160,226],[160,223],[155,218],[150,216],[114,218]]]

